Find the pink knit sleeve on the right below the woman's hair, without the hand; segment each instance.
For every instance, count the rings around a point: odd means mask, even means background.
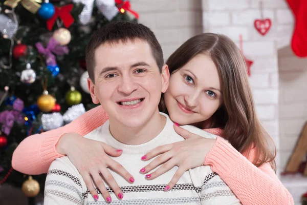
[[[254,148],[255,149],[255,148]],[[234,149],[225,139],[217,137],[205,157],[210,165],[244,204],[294,204],[293,197],[277,178],[269,163],[253,165],[255,150],[248,159]]]

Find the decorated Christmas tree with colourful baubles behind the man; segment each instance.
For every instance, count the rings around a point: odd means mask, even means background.
[[[123,0],[0,0],[0,9],[0,186],[30,183],[36,189],[23,191],[35,197],[46,175],[13,170],[14,149],[96,106],[86,83],[87,42],[103,25],[138,14]]]

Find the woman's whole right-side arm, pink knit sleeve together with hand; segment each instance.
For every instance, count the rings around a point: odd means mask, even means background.
[[[175,131],[186,140],[163,145],[146,153],[142,160],[152,160],[144,167],[143,174],[148,174],[159,165],[156,171],[150,173],[148,180],[155,179],[174,166],[178,166],[176,174],[165,187],[170,190],[183,175],[194,167],[210,165],[234,192],[244,205],[251,204],[294,204],[291,194],[282,185],[269,163],[257,168],[251,161],[255,157],[255,149],[248,154],[248,159],[234,149],[222,137],[216,139],[204,138],[193,134],[176,124]],[[215,135],[222,135],[221,129],[205,130]],[[203,161],[205,159],[205,161]]]

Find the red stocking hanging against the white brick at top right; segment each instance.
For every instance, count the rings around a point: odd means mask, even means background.
[[[298,57],[307,57],[307,1],[287,0],[295,18],[291,48]]]

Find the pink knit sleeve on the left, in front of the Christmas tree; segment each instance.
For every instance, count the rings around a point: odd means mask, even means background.
[[[104,124],[107,115],[97,106],[70,124],[55,130],[31,135],[20,142],[12,157],[12,167],[25,174],[47,173],[51,162],[63,156],[57,152],[56,145],[65,133],[78,133],[81,136]]]

